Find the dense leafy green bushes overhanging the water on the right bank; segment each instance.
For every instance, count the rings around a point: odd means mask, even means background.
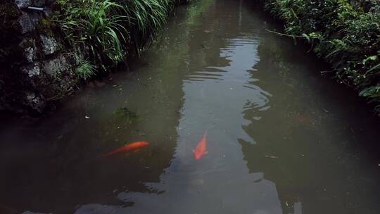
[[[380,113],[380,6],[376,0],[262,0],[287,36],[305,39],[342,83]]]

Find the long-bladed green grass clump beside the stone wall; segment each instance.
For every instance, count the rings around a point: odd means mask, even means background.
[[[187,0],[58,0],[54,22],[75,47],[77,74],[87,79],[139,54],[175,4]]]

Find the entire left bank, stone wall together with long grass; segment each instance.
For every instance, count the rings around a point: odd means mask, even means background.
[[[6,0],[0,6],[0,110],[40,114],[158,38],[188,0]]]

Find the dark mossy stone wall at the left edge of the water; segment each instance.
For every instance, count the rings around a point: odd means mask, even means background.
[[[54,0],[2,1],[0,109],[42,113],[78,82],[71,48],[49,19]]]

